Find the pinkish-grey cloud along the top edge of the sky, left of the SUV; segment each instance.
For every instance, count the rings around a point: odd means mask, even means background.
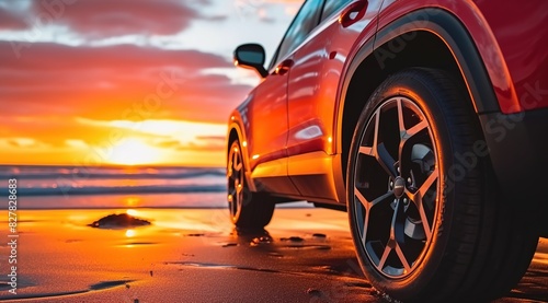
[[[55,3],[55,4],[52,4]],[[41,22],[67,25],[88,37],[171,35],[184,31],[198,11],[179,0],[34,1],[32,13]]]

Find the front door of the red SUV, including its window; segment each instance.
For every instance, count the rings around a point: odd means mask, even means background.
[[[298,195],[287,177],[287,81],[290,54],[318,24],[323,0],[308,0],[289,25],[270,73],[252,92],[247,116],[252,177],[270,191]]]

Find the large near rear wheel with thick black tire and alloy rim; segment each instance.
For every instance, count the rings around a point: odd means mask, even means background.
[[[398,72],[370,96],[354,131],[346,197],[356,254],[372,284],[403,302],[499,298],[538,242],[518,203],[496,197],[458,83],[438,70]]]

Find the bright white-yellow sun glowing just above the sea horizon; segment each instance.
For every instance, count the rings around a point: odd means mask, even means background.
[[[158,163],[162,159],[161,150],[137,138],[123,139],[113,147],[109,162],[122,165]]]

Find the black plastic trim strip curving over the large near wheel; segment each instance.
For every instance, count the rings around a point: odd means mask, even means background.
[[[427,20],[423,16],[427,16]],[[420,22],[418,22],[418,20]],[[364,60],[368,59],[370,56],[375,56],[374,51],[384,44],[413,31],[427,31],[438,36],[445,43],[460,69],[460,73],[466,82],[473,106],[478,113],[500,112],[496,98],[498,95],[493,90],[488,70],[490,68],[494,71],[504,70],[504,72],[498,74],[498,78],[503,79],[498,82],[503,84],[499,83],[500,85],[496,90],[509,92],[511,91],[511,79],[507,70],[503,68],[504,62],[493,62],[493,59],[489,61],[491,61],[491,65],[494,65],[495,67],[486,67],[483,65],[483,58],[480,56],[480,53],[478,51],[476,44],[472,42],[466,26],[457,18],[455,18],[454,14],[439,8],[423,8],[400,16],[389,24],[384,24],[384,26],[379,26],[379,28],[380,30],[377,31],[375,37],[367,37],[366,42],[356,44],[361,45],[359,48],[351,53],[352,56],[349,57],[351,59],[347,60],[344,67],[342,73],[344,78],[340,83],[339,98],[335,104],[335,133],[338,133],[338,138],[342,138],[344,103],[350,83],[358,67],[362,62],[364,62]],[[338,141],[336,151],[338,153],[341,153],[342,140]]]

